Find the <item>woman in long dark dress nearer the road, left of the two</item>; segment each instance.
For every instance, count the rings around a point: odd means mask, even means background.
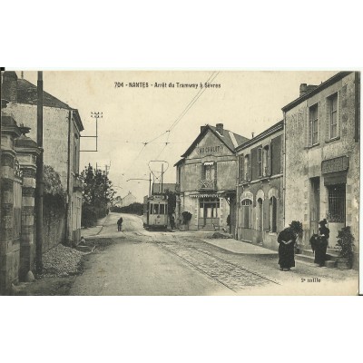
[[[289,271],[291,267],[295,267],[294,247],[297,236],[290,227],[280,231],[278,237],[280,270]]]

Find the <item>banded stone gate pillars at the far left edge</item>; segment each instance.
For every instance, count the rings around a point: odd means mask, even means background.
[[[0,294],[34,267],[34,189],[40,149],[13,117],[1,114]]]

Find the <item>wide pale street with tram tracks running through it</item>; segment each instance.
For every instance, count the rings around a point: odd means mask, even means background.
[[[198,233],[145,231],[141,217],[122,215],[123,231],[117,231],[120,214],[110,213],[103,227],[86,237],[113,243],[85,256],[83,274],[74,280],[70,295],[315,295],[356,289],[356,271],[297,262],[295,270],[283,272],[270,250],[231,253],[201,240]]]

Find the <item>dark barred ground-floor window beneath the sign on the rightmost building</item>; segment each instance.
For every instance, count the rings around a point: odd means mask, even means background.
[[[329,221],[345,223],[346,219],[346,184],[328,187]]]

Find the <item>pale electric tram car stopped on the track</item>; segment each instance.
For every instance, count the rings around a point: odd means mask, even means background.
[[[158,194],[143,198],[143,228],[166,229],[168,227],[168,198]]]

